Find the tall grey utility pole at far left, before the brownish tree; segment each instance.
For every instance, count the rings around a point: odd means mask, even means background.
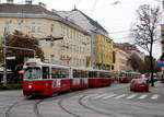
[[[3,33],[3,85],[7,85],[7,26]]]

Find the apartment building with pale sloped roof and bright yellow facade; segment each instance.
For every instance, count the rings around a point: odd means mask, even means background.
[[[114,69],[115,52],[113,40],[108,37],[108,32],[99,23],[75,8],[72,11],[55,11],[55,13],[74,22],[91,33],[91,66],[93,68]]]

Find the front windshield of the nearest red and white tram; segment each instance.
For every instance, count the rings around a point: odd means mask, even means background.
[[[27,68],[24,73],[24,79],[40,79],[40,69]]]

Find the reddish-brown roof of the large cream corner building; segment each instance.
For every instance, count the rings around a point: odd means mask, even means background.
[[[44,17],[47,15],[48,19],[56,19],[67,25],[70,25],[85,34],[89,34],[86,31],[84,31],[81,26],[79,26],[78,24],[70,22],[66,19],[63,19],[62,16],[60,16],[59,14],[47,10],[46,8],[38,5],[38,4],[14,4],[14,3],[0,3],[0,14],[8,14],[8,16],[10,15],[14,15],[17,16],[19,14],[28,14],[26,16],[34,16],[34,17]],[[42,15],[42,16],[39,16]]]

